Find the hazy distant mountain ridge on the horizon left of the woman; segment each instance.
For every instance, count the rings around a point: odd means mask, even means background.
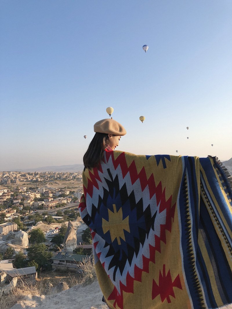
[[[53,165],[37,168],[17,169],[19,172],[82,172],[83,170],[84,164]]]

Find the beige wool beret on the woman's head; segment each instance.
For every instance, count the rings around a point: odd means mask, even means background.
[[[127,134],[125,128],[114,119],[102,119],[93,126],[94,132],[123,136]]]

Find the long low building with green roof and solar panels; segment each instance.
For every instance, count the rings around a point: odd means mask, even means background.
[[[52,257],[52,270],[68,270],[77,272],[79,270],[80,262],[90,258],[90,256],[72,254],[72,252],[57,252]]]

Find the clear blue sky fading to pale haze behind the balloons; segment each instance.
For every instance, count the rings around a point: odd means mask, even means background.
[[[231,16],[229,0],[2,0],[0,171],[82,163],[108,106],[118,150],[230,159]]]

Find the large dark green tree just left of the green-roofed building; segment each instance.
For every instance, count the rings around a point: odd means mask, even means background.
[[[34,260],[38,264],[38,268],[46,269],[52,252],[48,251],[44,243],[35,244],[27,249],[29,262]]]

